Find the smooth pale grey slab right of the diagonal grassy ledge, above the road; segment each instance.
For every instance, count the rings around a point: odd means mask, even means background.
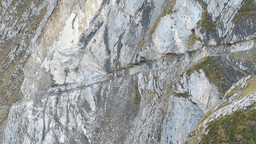
[[[184,54],[187,51],[191,30],[201,19],[202,10],[196,1],[176,1],[173,8],[175,12],[161,18],[153,37],[153,42],[161,54]]]

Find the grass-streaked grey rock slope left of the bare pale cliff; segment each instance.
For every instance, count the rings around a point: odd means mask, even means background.
[[[23,63],[32,51],[57,2],[0,2],[1,108],[10,107],[19,99],[24,80]],[[3,100],[4,97],[8,97],[7,100]]]

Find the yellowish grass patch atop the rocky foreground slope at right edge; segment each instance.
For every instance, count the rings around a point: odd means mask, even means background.
[[[252,79],[254,79],[254,80],[252,81]],[[228,98],[230,98],[232,95],[234,95],[235,93],[238,93],[238,92],[242,92],[243,96],[246,96],[246,95],[248,95],[248,94],[250,94],[250,93],[255,92],[255,91],[256,91],[256,76],[252,76],[252,77],[250,78],[250,80],[247,81],[247,88],[246,88],[246,89],[244,89],[244,88],[240,89],[240,86],[241,86],[241,85],[237,86],[237,87],[236,87],[234,90],[232,90],[230,93],[227,93],[227,94],[225,95],[224,99],[228,99]]]

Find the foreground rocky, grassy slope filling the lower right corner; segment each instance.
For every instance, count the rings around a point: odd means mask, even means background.
[[[249,143],[251,137],[246,137],[244,132],[249,133],[250,128],[255,128],[256,89],[254,79],[255,76],[249,75],[235,83],[224,95],[224,101],[210,111],[211,113],[206,114],[194,129],[190,142],[224,143],[229,141],[233,143],[240,141]],[[242,116],[248,113],[250,116]],[[234,129],[239,130],[233,131]],[[211,138],[213,131],[217,131],[215,140]],[[210,137],[206,137],[208,135]]]

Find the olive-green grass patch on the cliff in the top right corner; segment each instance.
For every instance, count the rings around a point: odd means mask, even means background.
[[[237,23],[240,18],[256,18],[256,5],[253,0],[247,0],[239,9],[237,15],[233,19],[233,23]]]

